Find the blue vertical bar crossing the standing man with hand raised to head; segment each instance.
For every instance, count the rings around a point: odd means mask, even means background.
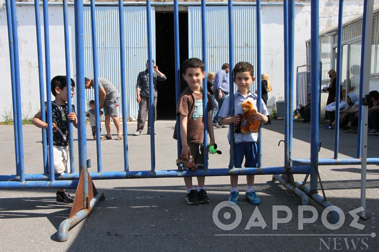
[[[147,52],[149,58],[149,120],[150,120],[150,151],[151,151],[151,170],[155,171],[155,117],[154,117],[154,86],[153,86],[153,51],[152,51],[152,28],[151,28],[151,1],[146,0],[147,16]],[[180,132],[180,131],[179,131]]]

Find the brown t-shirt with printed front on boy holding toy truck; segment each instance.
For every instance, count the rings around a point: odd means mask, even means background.
[[[207,111],[213,110],[214,105],[209,94],[207,94],[207,101]],[[187,142],[204,142],[203,93],[193,93],[187,87],[179,97],[176,114],[187,116]]]

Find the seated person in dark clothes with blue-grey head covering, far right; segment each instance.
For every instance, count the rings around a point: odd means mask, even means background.
[[[358,122],[359,99],[357,94],[348,94],[346,99],[347,107],[341,111],[340,122],[344,126],[342,131],[353,130],[353,124]]]

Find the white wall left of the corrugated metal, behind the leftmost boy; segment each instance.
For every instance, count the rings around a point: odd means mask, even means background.
[[[74,35],[74,8],[69,6],[69,36]],[[41,16],[41,36],[42,48],[44,47],[43,13]],[[35,29],[34,6],[17,5],[18,24],[18,44],[19,44],[19,68],[20,68],[20,89],[22,99],[22,114],[25,118],[32,117],[40,108],[39,105],[39,78],[38,78],[38,58],[37,39]],[[63,11],[62,6],[49,6],[49,35],[50,35],[50,58],[51,76],[66,75],[65,64],[65,41],[63,31]],[[70,41],[70,68],[71,77],[75,76],[75,41]],[[45,76],[45,53],[43,50],[43,70]],[[4,121],[6,114],[12,113],[12,87],[11,69],[9,62],[9,42],[6,20],[5,5],[0,7],[0,121]],[[50,80],[48,81],[50,84]],[[44,80],[46,85],[46,80]],[[46,93],[46,86],[45,86]],[[76,103],[76,96],[74,96]]]

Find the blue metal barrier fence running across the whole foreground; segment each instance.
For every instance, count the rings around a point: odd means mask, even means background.
[[[207,161],[205,162],[205,169],[198,170],[196,172],[188,172],[181,170],[161,170],[155,171],[155,128],[154,128],[154,97],[153,92],[150,92],[150,103],[149,103],[149,120],[151,125],[150,134],[150,147],[151,147],[151,171],[130,171],[128,162],[128,141],[127,141],[127,124],[123,124],[123,156],[124,156],[124,171],[123,172],[103,172],[102,171],[102,159],[101,159],[101,145],[100,145],[100,131],[96,133],[96,146],[97,146],[97,172],[89,173],[90,177],[94,180],[96,179],[125,179],[125,178],[159,178],[159,177],[187,177],[187,176],[226,176],[226,175],[254,175],[254,174],[282,174],[284,176],[275,176],[277,180],[280,181],[286,188],[294,190],[299,197],[302,198],[303,204],[308,204],[307,195],[314,199],[318,204],[327,207],[331,205],[329,202],[325,201],[324,198],[318,196],[316,191],[319,185],[319,174],[318,169],[320,165],[335,165],[335,164],[361,164],[362,161],[359,156],[361,156],[361,149],[359,149],[357,158],[344,158],[338,159],[338,127],[336,127],[336,149],[334,158],[320,159],[318,157],[319,152],[319,138],[318,138],[318,121],[319,121],[319,110],[320,110],[320,68],[319,64],[319,31],[318,31],[318,1],[311,0],[311,59],[310,64],[310,86],[304,87],[303,84],[297,85],[297,97],[299,92],[311,93],[311,139],[310,139],[310,158],[309,159],[295,159],[292,157],[292,139],[293,139],[293,80],[294,80],[294,0],[284,1],[284,76],[285,76],[285,159],[284,165],[280,167],[261,167],[261,143],[259,143],[258,148],[258,168],[242,168],[242,169],[231,169],[227,167],[218,169],[208,169]],[[342,2],[340,1],[340,13],[339,17],[342,20]],[[365,2],[366,4],[366,2]],[[37,54],[38,54],[38,65],[39,65],[39,87],[40,87],[40,107],[41,111],[45,111],[45,91],[44,91],[44,80],[43,80],[43,59],[42,59],[42,42],[41,42],[41,31],[40,31],[40,18],[39,18],[39,2],[35,0],[35,20],[36,20],[36,35],[37,35]],[[256,3],[257,11],[257,46],[258,46],[258,60],[257,60],[257,76],[258,83],[260,83],[261,74],[261,33],[260,33],[260,0]],[[48,14],[48,1],[43,0],[43,16],[44,16],[44,36],[45,36],[45,78],[46,78],[46,94],[47,94],[47,114],[52,114],[52,97],[51,97],[51,85],[50,85],[50,46],[49,46],[49,14]],[[175,44],[175,83],[176,83],[176,101],[180,95],[180,59],[179,59],[179,25],[178,25],[178,0],[174,0],[174,44]],[[206,15],[206,1],[201,1],[202,8],[202,45],[203,45],[203,61],[205,62],[207,69],[207,50],[206,50],[206,24],[204,16]],[[44,112],[42,112],[42,120],[47,121],[48,130],[42,130],[42,142],[43,142],[43,173],[42,174],[25,174],[24,172],[24,161],[23,161],[23,140],[22,140],[22,119],[21,119],[21,99],[20,99],[20,72],[19,72],[19,61],[18,61],[18,39],[17,39],[17,17],[16,17],[16,5],[14,0],[6,0],[6,10],[8,18],[8,36],[10,40],[10,59],[11,59],[11,76],[12,76],[12,98],[13,98],[13,108],[14,108],[14,131],[15,131],[15,155],[16,155],[16,174],[15,175],[0,175],[0,189],[19,189],[19,188],[76,188],[78,186],[78,181],[82,170],[88,168],[87,164],[87,143],[86,143],[86,104],[85,104],[85,73],[84,73],[84,31],[83,31],[83,0],[76,0],[74,4],[75,11],[75,45],[76,45],[76,91],[77,91],[77,114],[78,117],[78,153],[79,153],[79,169],[75,172],[74,169],[74,159],[73,159],[73,135],[72,135],[72,123],[69,123],[69,150],[70,150],[70,160],[72,172],[64,174],[61,176],[54,175],[53,167],[53,152],[52,152],[52,117],[45,118]],[[233,44],[233,1],[228,0],[228,25],[229,25],[229,64],[232,68],[234,66],[234,44]],[[63,13],[64,13],[64,28],[65,28],[65,52],[66,52],[66,75],[70,76],[69,68],[69,32],[68,32],[68,15],[67,15],[67,0],[63,0]],[[98,89],[98,66],[97,66],[97,51],[96,51],[96,22],[95,22],[95,0],[91,0],[91,25],[92,25],[92,47],[93,47],[93,72],[94,72],[94,89],[95,94],[99,92]],[[152,29],[151,29],[151,3],[150,0],[146,2],[146,14],[147,14],[147,33],[148,33],[148,64],[149,64],[149,75],[153,76],[152,67]],[[342,21],[341,21],[342,22]],[[127,120],[126,115],[126,90],[125,90],[125,36],[124,34],[124,17],[123,17],[123,2],[119,0],[119,25],[120,25],[120,62],[121,62],[121,94],[122,94],[122,119],[124,122]],[[342,29],[342,23],[340,24]],[[363,31],[365,31],[363,29]],[[342,33],[342,30],[341,30]],[[339,33],[339,37],[341,37]],[[341,46],[341,41],[338,42]],[[363,43],[362,43],[363,47]],[[338,49],[340,50],[340,47]],[[362,55],[363,57],[363,55]],[[337,59],[337,64],[341,67],[341,57]],[[363,71],[363,70],[362,70]],[[338,73],[338,81],[341,79],[341,71]],[[303,74],[303,73],[302,73]],[[299,79],[309,79],[308,74],[299,75],[297,73],[297,80]],[[230,83],[233,83],[233,76],[229,75]],[[70,86],[70,79],[67,80],[68,87]],[[304,82],[302,82],[304,83]],[[261,97],[261,86],[258,84],[258,97]],[[362,94],[363,82],[361,79],[360,91]],[[204,90],[206,90],[206,83],[203,85]],[[153,78],[149,78],[149,88],[153,90]],[[233,85],[230,86],[230,111],[233,114]],[[339,96],[339,86],[337,94]],[[71,109],[71,96],[70,89],[68,88],[68,104],[69,110]],[[299,101],[299,100],[297,100]],[[204,115],[207,114],[207,99],[204,96]],[[362,104],[361,104],[362,107]],[[99,98],[95,95],[95,108],[96,108],[96,126],[100,128],[100,115],[99,115]],[[258,103],[258,111],[261,111],[261,104]],[[338,112],[337,112],[338,114]],[[360,119],[362,115],[360,114]],[[207,120],[205,121],[205,136],[207,136]],[[361,120],[362,121],[362,120]],[[360,125],[360,130],[362,131],[362,124]],[[232,127],[229,127],[231,133],[231,142],[234,142]],[[177,132],[179,130],[179,120],[177,119]],[[49,134],[47,138],[46,134]],[[259,131],[259,137],[261,133]],[[47,141],[48,139],[48,141]],[[361,141],[361,140],[359,140]],[[205,137],[204,142],[205,148],[207,146],[207,137]],[[231,144],[233,150],[234,144]],[[181,141],[180,134],[178,135],[177,141],[177,154],[180,155]],[[206,150],[206,149],[205,149]],[[231,152],[234,155],[234,151]],[[207,160],[207,151],[204,151],[205,160]],[[233,156],[232,156],[233,157]],[[48,162],[48,160],[50,162]],[[49,166],[48,163],[51,165]],[[367,158],[367,164],[378,164],[379,158]],[[168,167],[170,169],[170,167]],[[85,172],[87,174],[87,172]],[[310,175],[310,189],[308,189],[302,183],[294,183],[292,174],[307,174]],[[88,177],[86,175],[84,186],[84,195],[88,194]],[[99,194],[100,195],[100,194]],[[100,199],[100,196],[96,195],[94,200],[90,202],[89,209],[86,212],[81,212],[79,216],[71,219],[71,221],[65,222],[62,227],[62,232],[68,232],[70,226],[74,225],[78,221],[86,217],[86,215],[93,209],[96,202]],[[85,197],[86,198],[86,197]],[[60,234],[60,240],[67,239],[66,234]]]

